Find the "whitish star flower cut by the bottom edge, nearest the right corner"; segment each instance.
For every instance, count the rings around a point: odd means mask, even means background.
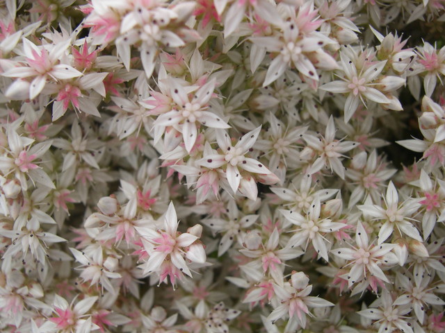
[[[396,305],[396,302],[391,298],[391,293],[387,289],[382,289],[382,296],[377,298],[369,309],[357,313],[364,318],[371,319],[373,327],[379,332],[401,330],[405,333],[414,333],[409,317],[406,316],[410,311],[409,306]]]

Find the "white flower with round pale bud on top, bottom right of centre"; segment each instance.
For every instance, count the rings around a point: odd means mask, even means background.
[[[312,291],[312,284],[309,284],[309,278],[303,272],[293,271],[289,282],[274,284],[273,290],[279,305],[275,306],[275,309],[267,318],[272,323],[289,315],[289,321],[295,321],[298,327],[305,328],[307,316],[312,316],[309,307],[334,306],[323,298],[309,296]]]

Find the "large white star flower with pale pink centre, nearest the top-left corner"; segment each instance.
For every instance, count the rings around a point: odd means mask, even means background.
[[[49,51],[44,46],[36,46],[29,40],[24,39],[24,52],[26,56],[25,64],[20,64],[4,72],[3,76],[10,78],[33,78],[29,85],[29,99],[34,99],[47,83],[48,78],[53,80],[66,80],[69,78],[76,78],[82,73],[74,69],[70,65],[60,62],[66,49],[70,45],[70,40],[61,42],[53,46]],[[18,80],[15,81],[19,82]],[[10,85],[6,91],[6,96],[13,96],[15,94],[16,85]]]

